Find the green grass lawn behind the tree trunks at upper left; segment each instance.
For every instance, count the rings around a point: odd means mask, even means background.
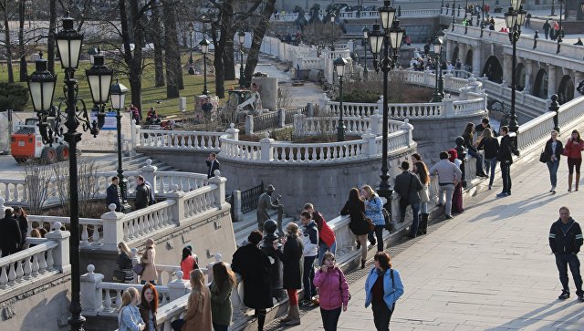
[[[188,63],[188,55],[184,55],[181,59],[183,64]],[[193,60],[195,62],[195,67],[197,61],[203,64],[203,58],[200,55],[193,55]],[[108,59],[106,58],[106,64],[108,64]],[[144,68],[144,72],[142,73],[142,113],[144,116],[146,112],[151,107],[154,107],[156,111],[161,116],[169,116],[169,115],[178,115],[183,114],[179,111],[179,98],[166,98],[166,86],[161,88],[154,87],[154,66],[151,59],[147,59],[147,64]],[[28,64],[28,75],[32,74],[35,71],[35,64],[29,63]],[[64,78],[65,74],[63,69],[61,68],[60,63],[56,64],[56,71],[57,71],[57,88],[55,88],[55,98],[53,99],[53,103],[57,106],[58,99],[63,97],[63,87],[64,87]],[[86,101],[87,107],[91,107],[91,94],[89,92],[89,83],[85,76],[85,69],[89,68],[89,60],[81,61],[79,63],[78,70],[76,72],[76,77],[78,78],[78,86],[79,92],[78,97],[83,98]],[[209,93],[211,95],[215,94],[215,80],[214,76],[209,75],[209,69],[212,66],[209,66],[207,63],[207,88],[209,89]],[[18,80],[19,77],[19,70],[20,64],[15,61],[13,62],[13,70],[15,80]],[[115,77],[114,77],[115,79]],[[0,65],[0,81],[7,81],[8,80],[8,71],[5,64]],[[189,75],[188,74],[188,66],[183,65],[183,81],[184,81],[184,89],[180,91],[181,97],[186,98],[187,102],[187,113],[193,114],[194,110],[194,97],[201,95],[203,92],[203,75]],[[126,78],[120,78],[120,83],[125,85],[127,88],[130,88],[130,82]],[[21,84],[26,86],[26,82],[21,82]],[[225,91],[232,87],[237,87],[238,83],[237,80],[229,80],[225,81]],[[225,95],[227,93],[225,92]],[[161,103],[157,103],[156,101],[161,101]],[[220,100],[220,105],[223,104],[226,98]],[[126,106],[130,106],[130,91],[126,93]],[[110,105],[107,105],[109,107]],[[26,110],[33,111],[32,101],[30,98],[26,104]]]

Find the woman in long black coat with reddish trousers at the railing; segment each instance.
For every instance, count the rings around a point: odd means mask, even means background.
[[[304,246],[302,240],[298,238],[298,225],[296,223],[288,223],[286,232],[286,237],[282,238],[283,247],[278,247],[277,242],[273,243],[278,258],[284,264],[284,288],[287,291],[290,304],[288,315],[282,318],[280,323],[286,323],[287,326],[297,326],[300,324],[297,290],[302,288],[300,261]]]

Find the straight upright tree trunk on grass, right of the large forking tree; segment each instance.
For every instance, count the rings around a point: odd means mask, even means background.
[[[174,7],[169,1],[162,1],[162,14],[164,16],[164,40],[165,50],[164,64],[166,65],[166,98],[178,98],[179,82],[177,78],[177,58],[178,36],[176,31],[176,21],[174,19]],[[174,44],[175,41],[177,44]],[[180,67],[180,61],[178,66]]]

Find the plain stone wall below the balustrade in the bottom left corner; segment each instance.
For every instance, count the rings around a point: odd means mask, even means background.
[[[42,284],[29,284],[2,295],[2,330],[68,330],[70,279],[70,273],[55,274]]]

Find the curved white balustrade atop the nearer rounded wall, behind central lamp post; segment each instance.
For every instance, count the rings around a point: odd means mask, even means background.
[[[400,130],[391,133],[388,136],[390,150],[414,146],[412,129],[412,125],[406,120]],[[381,137],[370,131],[364,133],[360,140],[330,143],[290,143],[270,139],[267,134],[266,138],[259,142],[240,141],[236,137],[237,134],[221,137],[223,159],[261,163],[325,163],[366,160],[381,155],[381,150],[377,147],[381,143]]]

